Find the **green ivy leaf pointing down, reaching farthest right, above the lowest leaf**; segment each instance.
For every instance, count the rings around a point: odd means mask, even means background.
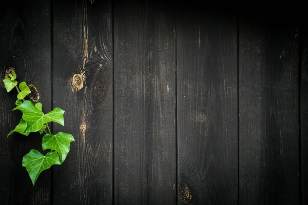
[[[42,141],[43,150],[50,149],[59,153],[61,163],[65,160],[69,150],[70,142],[75,141],[73,135],[69,133],[59,132],[55,135],[45,134]]]

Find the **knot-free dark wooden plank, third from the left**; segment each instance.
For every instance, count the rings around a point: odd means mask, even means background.
[[[114,7],[115,204],[175,204],[175,14]]]

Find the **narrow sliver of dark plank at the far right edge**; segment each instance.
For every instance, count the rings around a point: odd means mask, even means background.
[[[304,19],[304,18],[303,18]],[[308,24],[300,24],[300,134],[301,134],[301,184],[302,204],[308,203]]]

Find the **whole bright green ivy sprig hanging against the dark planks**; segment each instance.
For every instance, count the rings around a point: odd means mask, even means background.
[[[11,71],[6,78],[3,79],[3,82],[7,92],[16,88],[18,95],[15,102],[16,107],[13,110],[22,111],[23,116],[18,125],[14,130],[9,132],[7,137],[14,132],[25,136],[28,136],[31,132],[39,132],[40,134],[45,133],[42,140],[42,148],[43,150],[49,150],[45,155],[37,150],[30,150],[30,152],[23,157],[23,167],[27,169],[34,186],[38,175],[40,175],[42,171],[49,169],[52,165],[61,165],[64,162],[70,150],[70,142],[75,140],[69,133],[51,133],[48,122],[56,122],[64,126],[64,110],[54,108],[52,111],[45,114],[42,111],[41,103],[36,103],[34,105],[32,101],[25,100],[25,97],[30,94],[31,91],[25,82],[18,85],[16,77],[16,73]]]

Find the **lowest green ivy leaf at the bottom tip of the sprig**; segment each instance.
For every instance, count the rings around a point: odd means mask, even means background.
[[[59,155],[56,152],[48,152],[45,156],[37,150],[31,150],[23,158],[23,167],[29,173],[33,185],[42,171],[49,169],[52,165],[61,165]]]

